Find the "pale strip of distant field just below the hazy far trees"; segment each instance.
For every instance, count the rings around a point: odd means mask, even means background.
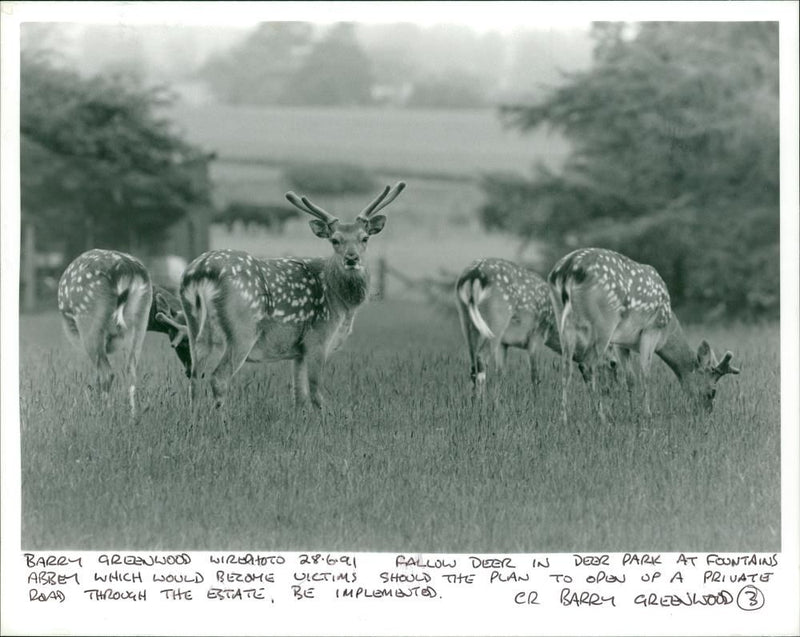
[[[558,166],[568,150],[558,136],[504,129],[494,110],[183,105],[166,115],[223,161],[271,166],[347,161],[382,173],[470,179],[528,173],[536,161]]]

